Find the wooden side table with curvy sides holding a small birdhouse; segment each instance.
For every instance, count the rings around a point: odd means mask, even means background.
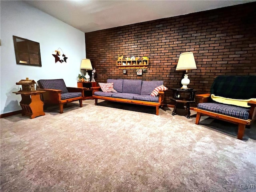
[[[20,106],[22,108],[22,115],[28,115],[31,119],[45,115],[44,102],[40,98],[40,94],[45,91],[32,91],[32,92],[13,92],[21,94]]]

